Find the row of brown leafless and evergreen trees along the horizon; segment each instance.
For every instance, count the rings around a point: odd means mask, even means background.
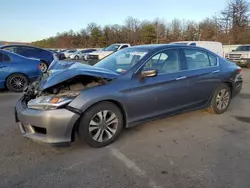
[[[223,44],[250,43],[250,5],[247,0],[231,0],[217,15],[200,22],[174,19],[169,23],[128,17],[123,25],[89,23],[80,31],[57,33],[56,36],[32,42],[43,48],[104,47],[112,43],[151,44],[172,41],[209,40]]]

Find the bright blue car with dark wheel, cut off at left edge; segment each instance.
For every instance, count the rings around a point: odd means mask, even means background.
[[[0,49],[0,88],[20,92],[41,74],[40,60]]]

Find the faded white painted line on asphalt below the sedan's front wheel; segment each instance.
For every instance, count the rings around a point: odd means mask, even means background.
[[[152,188],[163,188],[162,186],[156,185],[156,183],[147,176],[147,173],[144,170],[140,169],[140,167],[138,167],[132,160],[127,158],[118,149],[110,148],[110,151],[111,151],[113,156],[115,156],[117,159],[119,159],[121,162],[123,162],[125,164],[125,166],[127,168],[131,169],[132,171],[134,171],[135,174],[137,174],[140,177],[149,179],[149,186],[150,187],[152,187]]]

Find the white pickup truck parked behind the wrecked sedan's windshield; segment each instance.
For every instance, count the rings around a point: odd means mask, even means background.
[[[102,50],[98,50],[92,53],[89,53],[86,58],[90,65],[96,64],[99,60],[104,57],[124,48],[130,47],[130,44],[111,44],[110,46],[103,48]]]

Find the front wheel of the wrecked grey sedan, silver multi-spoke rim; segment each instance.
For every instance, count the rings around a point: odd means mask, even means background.
[[[82,141],[94,148],[114,142],[123,129],[120,109],[111,102],[101,102],[87,110],[81,117],[78,135]]]

